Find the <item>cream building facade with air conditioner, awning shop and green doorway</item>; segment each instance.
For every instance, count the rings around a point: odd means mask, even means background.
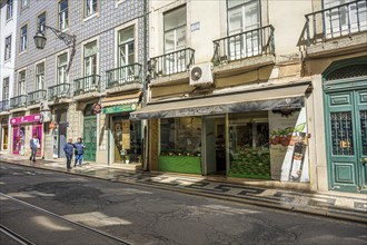
[[[366,1],[297,1],[291,10],[281,1],[152,1],[149,12],[148,105],[131,118],[149,121],[151,170],[366,192]],[[349,75],[328,94],[344,59]]]

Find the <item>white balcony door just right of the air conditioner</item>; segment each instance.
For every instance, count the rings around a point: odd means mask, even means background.
[[[229,60],[257,56],[261,51],[260,3],[228,0]],[[241,33],[241,35],[240,35]]]

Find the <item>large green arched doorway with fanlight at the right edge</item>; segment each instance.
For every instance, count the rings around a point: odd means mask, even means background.
[[[324,72],[329,188],[367,193],[367,58]]]

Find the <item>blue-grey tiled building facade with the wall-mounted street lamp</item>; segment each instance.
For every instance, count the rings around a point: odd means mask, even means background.
[[[11,154],[29,155],[36,134],[46,159],[63,158],[67,139],[77,137],[87,161],[123,161],[129,149],[133,161],[141,158],[141,124],[128,118],[142,91],[142,11],[138,0],[28,1],[18,9]],[[75,37],[75,46],[60,31]],[[33,45],[38,32],[47,39],[42,50]],[[116,133],[118,122],[131,126]],[[133,140],[122,143],[120,133]]]

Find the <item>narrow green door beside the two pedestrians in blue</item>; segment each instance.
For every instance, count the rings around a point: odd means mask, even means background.
[[[97,150],[97,116],[85,116],[83,141],[86,145],[85,160],[96,161]]]

